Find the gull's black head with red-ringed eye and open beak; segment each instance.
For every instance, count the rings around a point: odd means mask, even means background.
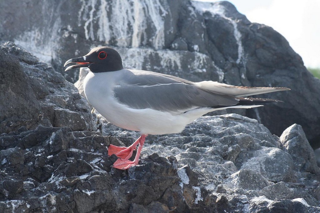
[[[69,63],[77,63],[68,67],[65,71],[78,67],[89,67],[93,73],[111,72],[123,69],[122,59],[119,53],[111,47],[95,47],[83,57],[69,59]]]

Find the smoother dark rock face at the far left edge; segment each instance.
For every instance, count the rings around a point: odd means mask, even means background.
[[[40,105],[19,58],[0,49],[0,132],[33,128],[41,120]]]

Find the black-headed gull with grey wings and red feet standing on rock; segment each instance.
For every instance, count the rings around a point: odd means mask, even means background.
[[[262,93],[290,90],[285,87],[233,86],[214,81],[192,82],[176,76],[145,70],[125,69],[113,48],[93,48],[83,57],[66,61],[65,69],[88,67],[84,94],[89,103],[109,122],[139,131],[129,147],[108,146],[108,155],[118,159],[112,167],[126,170],[138,165],[145,138],[181,132],[202,115],[227,108],[252,108],[275,99],[245,98]],[[139,146],[138,146],[139,145]],[[137,149],[133,161],[133,150]]]

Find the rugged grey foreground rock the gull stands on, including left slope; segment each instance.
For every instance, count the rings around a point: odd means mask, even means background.
[[[108,145],[138,132],[91,114],[73,84],[13,43],[0,65],[1,212],[320,212],[300,125],[279,138],[238,114],[204,116],[148,136],[140,165],[117,170]]]

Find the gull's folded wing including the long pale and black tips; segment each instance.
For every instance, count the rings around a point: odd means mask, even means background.
[[[121,104],[133,109],[151,108],[173,114],[201,107],[225,108],[276,102],[271,99],[240,97],[289,90],[280,87],[232,86],[212,81],[194,83],[160,73],[142,70],[127,71],[129,72],[126,73],[126,77],[113,88],[114,97]]]

